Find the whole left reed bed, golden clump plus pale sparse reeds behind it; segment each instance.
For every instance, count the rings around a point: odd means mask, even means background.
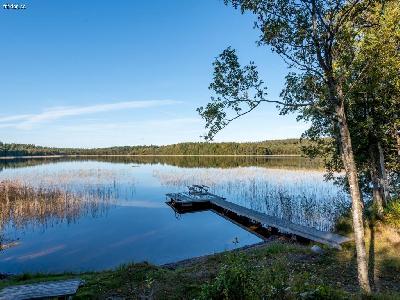
[[[16,232],[107,214],[118,200],[132,199],[128,170],[37,167],[0,173],[0,249]]]

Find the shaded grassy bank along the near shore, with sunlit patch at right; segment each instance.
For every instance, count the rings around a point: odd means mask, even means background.
[[[367,232],[373,299],[400,299],[400,230],[376,223]],[[338,251],[275,240],[258,247],[166,267],[128,264],[97,273],[19,275],[0,288],[79,276],[77,299],[354,299],[359,298],[354,245]]]

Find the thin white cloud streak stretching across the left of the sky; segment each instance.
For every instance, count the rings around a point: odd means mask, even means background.
[[[24,114],[0,117],[0,128],[15,127],[18,129],[30,129],[35,124],[55,121],[64,117],[110,112],[123,109],[150,108],[180,103],[174,100],[148,100],[126,101],[117,103],[96,104],[90,106],[69,106],[46,109],[38,114]],[[10,123],[13,121],[19,121]]]

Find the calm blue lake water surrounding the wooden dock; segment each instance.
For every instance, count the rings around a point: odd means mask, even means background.
[[[205,184],[228,201],[329,231],[349,205],[309,160],[99,157],[0,161],[0,180],[57,188],[73,201],[3,213],[0,273],[103,270],[174,262],[261,240],[209,211],[176,215],[165,193]]]

